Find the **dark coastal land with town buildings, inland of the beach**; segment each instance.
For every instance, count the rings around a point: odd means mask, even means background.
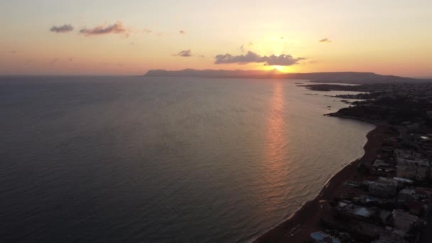
[[[306,87],[362,92],[338,95],[362,100],[328,116],[377,125],[372,156],[320,205],[322,230],[311,242],[431,242],[432,84]]]

